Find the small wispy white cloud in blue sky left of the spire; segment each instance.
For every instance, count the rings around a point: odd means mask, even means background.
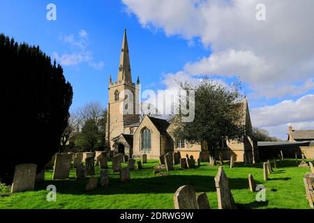
[[[54,52],[54,58],[60,61],[63,66],[77,66],[80,63],[87,63],[91,68],[100,70],[103,68],[103,61],[95,62],[93,52],[88,49],[89,38],[88,33],[84,29],[81,29],[78,33],[78,38],[75,38],[73,34],[68,36],[60,36],[60,40],[68,45],[70,53],[65,52],[59,55]]]

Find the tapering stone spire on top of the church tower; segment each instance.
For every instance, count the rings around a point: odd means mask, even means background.
[[[132,82],[130,57],[128,55],[128,39],[126,38],[126,29],[124,29],[124,40],[121,47],[121,56],[118,72],[118,82],[122,80],[125,80],[126,82]]]

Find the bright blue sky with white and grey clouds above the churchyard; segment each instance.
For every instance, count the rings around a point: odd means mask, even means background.
[[[204,74],[226,83],[240,77],[253,125],[282,139],[291,123],[314,128],[313,1],[265,0],[264,22],[255,20],[258,1],[244,2],[0,1],[0,32],[62,63],[74,90],[71,109],[91,101],[106,107],[126,28],[142,90],[172,89],[173,79]],[[57,6],[57,21],[47,21],[48,3]]]

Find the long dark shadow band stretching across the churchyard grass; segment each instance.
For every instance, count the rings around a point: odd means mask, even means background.
[[[132,175],[131,175],[132,176]],[[168,175],[152,176],[148,178],[133,178],[127,182],[121,183],[119,178],[110,178],[110,185],[98,188],[93,191],[84,191],[89,178],[82,180],[45,180],[36,185],[36,190],[46,190],[47,185],[55,185],[57,192],[61,194],[173,194],[182,185],[191,185],[195,192],[216,192],[214,176],[185,176]],[[98,176],[98,182],[100,177]],[[231,190],[241,190],[248,188],[246,178],[230,178],[229,185]]]

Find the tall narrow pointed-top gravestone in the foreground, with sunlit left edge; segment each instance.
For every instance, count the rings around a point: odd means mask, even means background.
[[[233,196],[229,188],[229,182],[223,167],[219,167],[218,173],[215,176],[218,209],[236,209],[237,206],[234,202]]]

